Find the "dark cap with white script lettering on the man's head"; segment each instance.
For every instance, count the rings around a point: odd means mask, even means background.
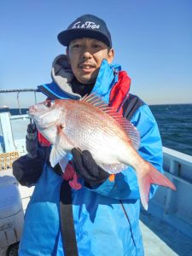
[[[96,38],[112,47],[111,35],[105,21],[95,15],[80,16],[67,27],[67,30],[60,32],[57,38],[64,46],[68,46],[76,38]]]

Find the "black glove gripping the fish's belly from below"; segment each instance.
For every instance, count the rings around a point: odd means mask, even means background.
[[[86,183],[91,186],[99,185],[109,177],[108,172],[105,172],[100,166],[97,166],[90,151],[84,150],[83,152],[79,152],[77,148],[73,148],[72,154],[75,172],[77,172],[79,176],[84,177]]]

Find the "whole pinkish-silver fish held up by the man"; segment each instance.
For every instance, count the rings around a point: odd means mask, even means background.
[[[138,154],[137,128],[100,96],[90,94],[79,101],[46,100],[31,106],[28,114],[53,145],[49,156],[51,166],[57,163],[65,166],[72,148],[80,152],[89,150],[96,164],[111,175],[131,166],[137,173],[141,202],[146,210],[151,184],[176,190],[166,176]]]

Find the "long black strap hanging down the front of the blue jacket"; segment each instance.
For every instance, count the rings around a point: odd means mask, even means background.
[[[67,181],[61,183],[60,190],[61,237],[65,256],[78,256],[78,247],[73,222],[71,187]]]

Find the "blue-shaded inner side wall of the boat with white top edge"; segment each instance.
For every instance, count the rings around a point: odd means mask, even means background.
[[[148,211],[192,237],[192,156],[163,147],[163,167],[177,191],[160,187]]]

